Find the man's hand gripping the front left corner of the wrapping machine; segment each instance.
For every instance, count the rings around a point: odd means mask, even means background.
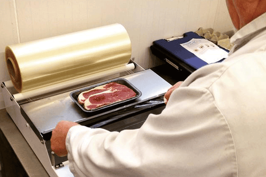
[[[79,125],[75,122],[68,121],[60,121],[55,129],[52,131],[51,137],[51,150],[59,157],[63,157],[67,155],[67,150],[65,147],[65,140],[68,130],[73,127]]]

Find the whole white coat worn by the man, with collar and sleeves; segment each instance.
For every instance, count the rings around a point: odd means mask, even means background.
[[[232,41],[248,42],[192,73],[140,129],[72,127],[66,147],[74,176],[265,176],[265,26],[266,14],[239,30]]]

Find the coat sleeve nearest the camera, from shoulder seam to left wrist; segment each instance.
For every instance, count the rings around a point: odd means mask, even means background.
[[[75,177],[237,176],[229,126],[205,88],[178,88],[140,129],[74,126],[66,147]]]

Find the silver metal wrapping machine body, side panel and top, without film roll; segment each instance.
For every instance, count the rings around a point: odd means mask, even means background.
[[[131,112],[137,112],[137,107],[142,107],[142,103],[151,107],[149,105],[153,105],[154,102],[150,101],[164,95],[169,87],[171,87],[171,84],[151,69],[144,70],[136,67],[136,69],[131,72],[127,72],[126,74],[120,73],[119,75],[113,75],[111,77],[121,77],[127,79],[142,92],[141,97],[136,100],[132,100],[127,104],[123,104],[122,106],[91,114],[82,111],[69,96],[71,91],[80,88],[80,86],[67,88],[66,90],[58,91],[58,93],[41,95],[39,98],[27,98],[17,102],[12,96],[16,93],[12,86],[10,86],[8,82],[3,82],[1,84],[8,114],[13,119],[21,134],[24,136],[33,152],[51,177],[71,176],[68,169],[67,159],[57,158],[52,155],[49,150],[49,139],[43,138],[50,135],[51,131],[55,128],[59,121],[68,120],[78,122],[82,125],[89,124],[90,127],[95,123],[94,127],[96,128],[99,123],[102,125],[101,121],[107,121],[108,123],[112,120],[119,119],[124,115],[131,114]],[[82,87],[109,79],[112,78],[109,76],[107,78],[94,80]],[[163,102],[156,102],[155,104],[158,103],[162,104]],[[124,114],[123,110],[126,109],[131,110],[129,113]],[[145,109],[145,107],[143,107],[142,110],[143,109]],[[121,111],[123,112],[122,116],[120,116]],[[111,118],[108,116],[106,118],[105,116],[115,114],[116,116]]]

